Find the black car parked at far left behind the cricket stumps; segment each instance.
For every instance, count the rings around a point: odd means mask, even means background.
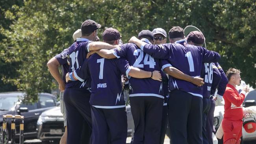
[[[23,103],[24,92],[2,92],[0,93],[0,144],[2,144],[3,115],[24,116],[24,140],[37,138],[37,120],[43,111],[58,105],[56,96],[48,93],[40,93],[39,101],[36,103]],[[11,120],[7,119],[7,140],[11,135]],[[15,122],[15,141],[19,142],[20,120]]]

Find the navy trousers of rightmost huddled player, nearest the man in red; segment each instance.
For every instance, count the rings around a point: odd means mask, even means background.
[[[210,98],[210,110],[207,114],[206,133],[208,137],[208,143],[213,144],[212,133],[213,133],[213,118],[215,110],[215,100],[213,97]]]

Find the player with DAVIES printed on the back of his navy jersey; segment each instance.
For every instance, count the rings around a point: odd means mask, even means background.
[[[113,28],[106,29],[102,36],[103,41],[108,41],[109,44],[119,43],[120,33]],[[87,69],[92,78],[90,104],[92,105],[93,144],[106,144],[108,135],[111,144],[125,144],[127,116],[122,95],[121,74],[149,79],[156,79],[156,74],[161,78],[161,74],[157,71],[145,72],[129,66],[124,58],[104,59],[94,54],[87,62]]]

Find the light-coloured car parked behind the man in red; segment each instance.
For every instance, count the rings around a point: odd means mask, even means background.
[[[250,91],[245,97],[243,107],[256,106],[256,90]],[[214,111],[214,126],[217,131],[221,121],[223,120],[224,106],[216,106]],[[256,114],[253,114],[256,117]],[[254,133],[247,133],[244,128],[242,128],[243,141],[256,140],[256,131]]]

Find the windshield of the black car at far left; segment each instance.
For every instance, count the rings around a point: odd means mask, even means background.
[[[17,96],[0,97],[0,111],[11,110],[19,100]]]

